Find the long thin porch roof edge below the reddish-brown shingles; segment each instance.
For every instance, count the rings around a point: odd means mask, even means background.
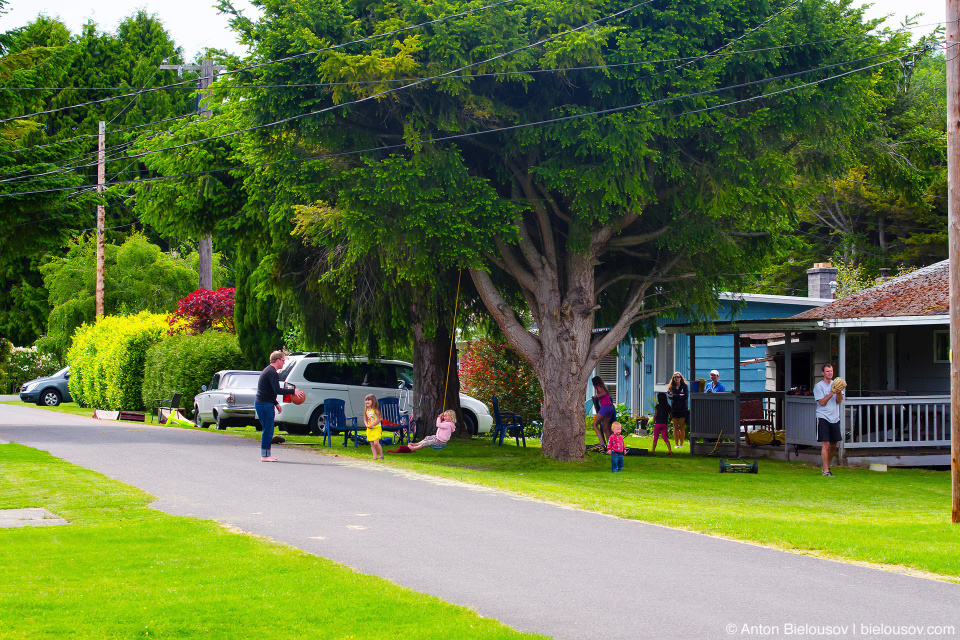
[[[723,335],[731,333],[800,333],[804,331],[827,331],[829,329],[869,329],[872,327],[902,327],[905,325],[949,325],[946,314],[929,316],[884,316],[872,318],[769,318],[762,320],[739,320],[737,322],[710,322],[706,326],[692,324],[668,324],[661,327],[664,333],[683,335]]]

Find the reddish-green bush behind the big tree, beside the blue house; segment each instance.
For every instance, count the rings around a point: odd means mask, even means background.
[[[464,393],[519,413],[525,425],[541,421],[543,391],[533,367],[508,345],[481,338],[470,342],[460,356],[460,384]],[[531,427],[531,432],[536,431]]]

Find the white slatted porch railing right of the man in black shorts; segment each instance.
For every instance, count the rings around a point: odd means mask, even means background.
[[[846,398],[844,446],[949,447],[950,396]]]

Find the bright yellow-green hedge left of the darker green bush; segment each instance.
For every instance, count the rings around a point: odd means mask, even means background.
[[[84,407],[142,409],[147,350],[166,329],[164,316],[146,311],[82,325],[67,353],[70,394]]]

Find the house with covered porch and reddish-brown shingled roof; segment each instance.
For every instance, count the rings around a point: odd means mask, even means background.
[[[732,335],[739,347],[765,348],[766,386],[759,395],[771,426],[784,430],[778,457],[819,447],[809,390],[822,365],[833,364],[848,382],[843,463],[950,463],[948,275],[949,263],[938,262],[790,317],[714,323],[717,334]],[[665,330],[688,339],[697,333],[686,325]],[[692,353],[689,367],[699,370],[695,358]],[[691,395],[691,438],[701,443],[693,451],[723,440],[737,453],[767,455],[743,446],[749,427],[740,409],[751,392],[737,385],[730,391]]]

